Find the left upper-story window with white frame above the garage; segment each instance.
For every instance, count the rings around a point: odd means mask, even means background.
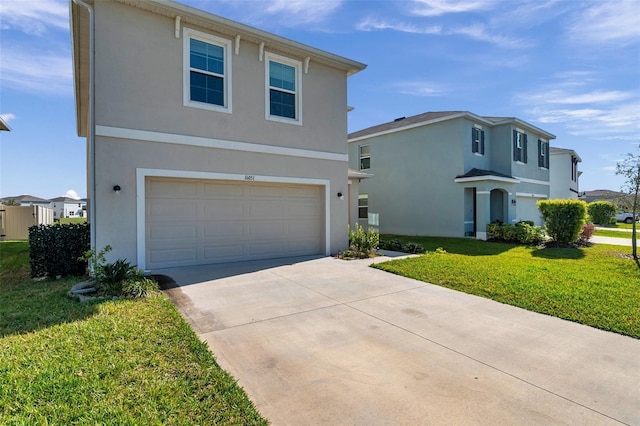
[[[184,105],[231,112],[231,41],[184,29]]]

